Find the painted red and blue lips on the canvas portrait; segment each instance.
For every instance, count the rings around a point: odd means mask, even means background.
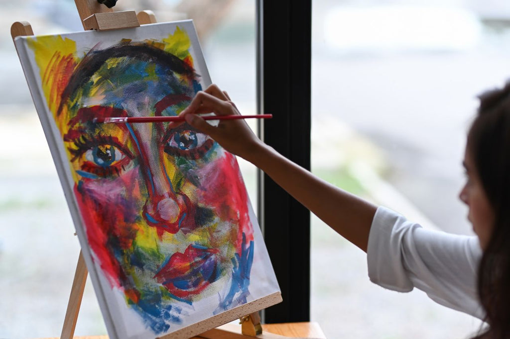
[[[218,253],[218,249],[189,245],[184,253],[174,253],[154,277],[174,296],[189,298],[220,277]]]

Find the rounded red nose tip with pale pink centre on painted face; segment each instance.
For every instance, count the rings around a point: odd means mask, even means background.
[[[172,234],[183,227],[189,228],[192,216],[189,198],[179,193],[152,195],[144,206],[143,215],[147,223],[159,231]]]

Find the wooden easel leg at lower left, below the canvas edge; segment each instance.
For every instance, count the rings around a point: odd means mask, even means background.
[[[72,339],[74,335],[74,328],[76,327],[80,305],[82,304],[87,274],[87,266],[85,266],[85,260],[83,260],[82,251],[80,250],[80,257],[78,258],[78,265],[76,266],[74,280],[72,281],[71,295],[69,296],[69,303],[67,304],[64,326],[62,327],[60,339]]]

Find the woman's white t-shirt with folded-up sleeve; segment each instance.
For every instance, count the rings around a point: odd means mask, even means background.
[[[384,288],[424,291],[432,300],[483,319],[476,275],[481,258],[477,237],[423,229],[379,207],[368,238],[370,280]]]

